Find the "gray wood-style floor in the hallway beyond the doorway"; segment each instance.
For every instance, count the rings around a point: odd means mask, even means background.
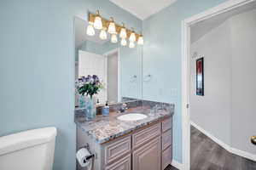
[[[190,170],[256,170],[255,161],[233,155],[195,127],[190,129]]]

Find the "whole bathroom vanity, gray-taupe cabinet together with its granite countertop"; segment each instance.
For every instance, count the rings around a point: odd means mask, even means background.
[[[152,104],[151,104],[152,105]],[[139,121],[120,121],[131,112],[147,116]],[[94,170],[160,170],[172,161],[172,115],[174,105],[155,110],[150,105],[135,106],[125,113],[112,111],[84,122],[76,114],[77,150],[89,144],[95,154]],[[77,169],[86,168],[77,165]]]

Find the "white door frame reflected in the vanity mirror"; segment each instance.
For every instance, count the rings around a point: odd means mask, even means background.
[[[120,48],[114,48],[111,51],[108,51],[107,53],[103,54],[103,56],[106,57],[107,59],[107,63],[106,65],[108,65],[108,55],[109,54],[113,54],[113,53],[118,53],[118,102],[121,101],[121,93],[120,93]],[[107,67],[108,69],[108,67]],[[107,72],[108,74],[108,72]],[[107,76],[107,82],[108,82],[108,76]],[[107,84],[107,88],[108,88],[108,84]],[[108,99],[108,90],[107,90],[107,99]]]

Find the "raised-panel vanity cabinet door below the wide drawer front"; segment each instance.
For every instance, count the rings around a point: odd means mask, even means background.
[[[133,170],[160,170],[160,157],[160,137],[157,137],[133,152]]]

